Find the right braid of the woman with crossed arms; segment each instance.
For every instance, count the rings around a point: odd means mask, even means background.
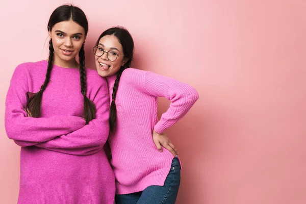
[[[82,45],[80,49],[79,58],[80,58],[81,93],[84,96],[84,116],[85,116],[86,124],[88,124],[90,120],[95,118],[96,109],[92,101],[86,96],[87,84],[86,84],[84,44]]]

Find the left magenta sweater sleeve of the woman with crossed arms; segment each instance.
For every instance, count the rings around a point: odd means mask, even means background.
[[[85,120],[77,116],[27,117],[24,109],[29,89],[23,69],[21,65],[15,69],[5,102],[5,129],[10,139],[20,146],[30,146],[71,133],[85,125]]]

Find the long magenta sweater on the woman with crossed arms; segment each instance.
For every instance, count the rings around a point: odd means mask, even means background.
[[[97,112],[85,125],[79,69],[54,66],[41,117],[27,117],[26,93],[39,91],[46,68],[44,60],[19,65],[6,98],[7,135],[21,146],[18,203],[113,203],[114,173],[101,150],[109,134],[107,82],[86,69]]]

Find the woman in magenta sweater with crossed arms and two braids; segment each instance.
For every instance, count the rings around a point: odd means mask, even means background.
[[[108,87],[85,68],[87,18],[64,5],[47,28],[48,60],[17,66],[6,98],[7,135],[21,146],[18,203],[113,204],[114,173],[103,150]]]

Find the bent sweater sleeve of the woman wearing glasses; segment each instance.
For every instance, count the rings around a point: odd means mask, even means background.
[[[146,71],[142,79],[144,92],[171,101],[168,110],[154,126],[154,131],[159,134],[184,117],[199,97],[192,86],[162,75]]]

